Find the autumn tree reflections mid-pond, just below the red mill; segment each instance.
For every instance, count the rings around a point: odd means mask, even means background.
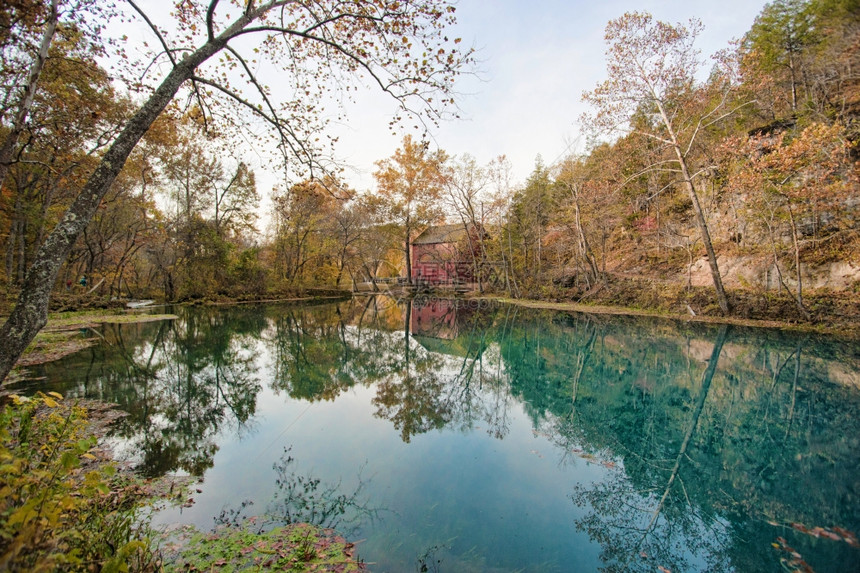
[[[424,312],[430,328],[457,317],[452,325],[464,329],[462,339],[445,340],[415,335],[411,304],[377,302],[298,308],[275,318],[273,386],[293,398],[332,400],[356,384],[375,384],[376,415],[391,420],[405,442],[452,424],[470,428],[477,420],[504,436],[505,394],[496,392],[492,406],[479,399],[487,388],[503,388],[498,368],[483,368],[492,314],[457,314],[447,304],[437,315]]]

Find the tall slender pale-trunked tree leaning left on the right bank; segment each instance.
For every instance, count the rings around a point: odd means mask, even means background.
[[[629,133],[664,147],[666,155],[649,169],[675,173],[689,193],[717,300],[728,314],[717,255],[696,190],[696,180],[708,166],[697,165],[695,154],[703,132],[730,116],[737,103],[733,78],[719,68],[706,86],[697,85],[703,62],[694,42],[701,29],[696,20],[689,26],[673,25],[639,12],[610,21],[605,36],[609,77],[583,94],[595,110],[583,122],[604,133]]]

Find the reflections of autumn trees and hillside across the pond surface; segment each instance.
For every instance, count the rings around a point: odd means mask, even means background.
[[[569,493],[607,570],[778,570],[780,537],[815,570],[860,561],[847,541],[804,533],[860,526],[855,345],[472,303],[186,309],[109,327],[110,346],[46,366],[62,383],[39,389],[120,403],[131,415],[118,435],[147,475],[205,471],[219,434],[254,427],[264,383],[308,402],[370,389],[403,442],[478,428],[503,440],[521,409],[559,465],[601,470]],[[291,464],[283,517],[323,493],[312,516],[342,515],[336,485]]]

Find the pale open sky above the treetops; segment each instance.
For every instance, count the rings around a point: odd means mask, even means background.
[[[647,11],[672,23],[699,18],[704,56],[739,38],[763,0],[460,0],[455,35],[479,49],[482,81],[458,84],[463,119],[433,130],[449,155],[468,153],[480,164],[507,155],[514,183],[522,183],[541,155],[552,164],[580,135],[583,91],[605,79],[603,31],[628,11]],[[368,89],[347,108],[337,152],[354,166],[344,177],[354,188],[374,188],[374,162],[391,156],[401,136],[388,129],[393,104]],[[420,135],[416,132],[416,135]],[[261,188],[264,190],[264,188]]]

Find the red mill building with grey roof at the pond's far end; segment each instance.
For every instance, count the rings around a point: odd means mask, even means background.
[[[412,280],[430,284],[472,281],[474,261],[481,248],[474,226],[428,227],[412,241]]]

